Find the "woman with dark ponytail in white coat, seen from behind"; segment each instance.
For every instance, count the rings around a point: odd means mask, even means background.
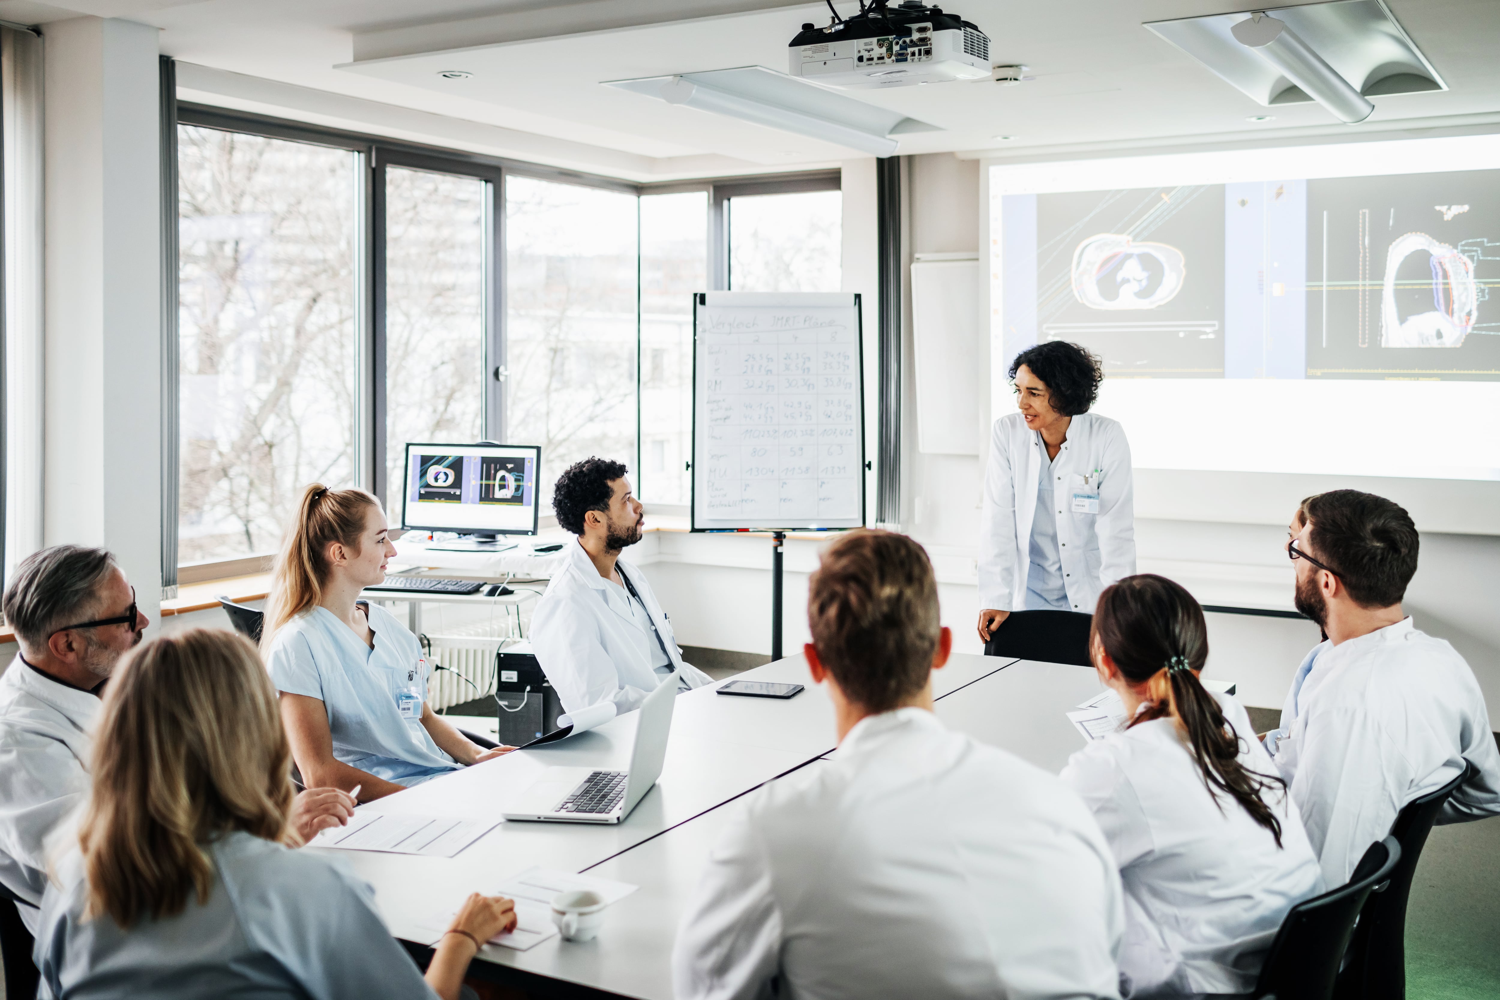
[[[1146,573],[1106,588],[1090,651],[1130,723],[1062,780],[1120,867],[1120,994],[1250,993],[1287,910],[1323,888],[1296,805],[1245,709],[1198,682],[1208,625],[1182,586]]]

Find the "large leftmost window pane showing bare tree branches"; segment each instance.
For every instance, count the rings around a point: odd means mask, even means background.
[[[358,156],[182,126],[178,559],[274,552],[354,483]]]

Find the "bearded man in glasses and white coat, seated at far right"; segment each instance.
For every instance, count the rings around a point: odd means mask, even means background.
[[[1266,735],[1329,886],[1344,885],[1404,805],[1466,765],[1438,823],[1500,814],[1500,751],[1473,670],[1401,607],[1418,531],[1396,504],[1358,490],[1302,501],[1287,526],[1296,607],[1326,639],[1298,667]]]

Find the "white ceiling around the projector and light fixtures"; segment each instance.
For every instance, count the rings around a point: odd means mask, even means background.
[[[836,0],[854,10],[852,0]],[[1376,97],[1341,126],[1317,105],[1270,109],[1143,28],[1248,9],[1245,0],[950,0],[998,63],[1034,82],[844,91],[942,130],[902,153],[1036,157],[1128,147],[1294,141],[1410,127],[1500,124],[1500,3],[1390,0],[1450,90]],[[664,180],[802,169],[858,154],[602,87],[603,81],[760,64],[826,7],[788,0],[0,0],[0,18],[124,16],[162,28],[184,99],[428,142]],[[44,28],[45,30],[45,28]],[[464,69],[470,79],[442,79]],[[1012,135],[1008,142],[993,136]]]

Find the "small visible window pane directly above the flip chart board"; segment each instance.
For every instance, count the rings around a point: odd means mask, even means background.
[[[730,198],[729,288],[836,292],[843,282],[843,192]]]

